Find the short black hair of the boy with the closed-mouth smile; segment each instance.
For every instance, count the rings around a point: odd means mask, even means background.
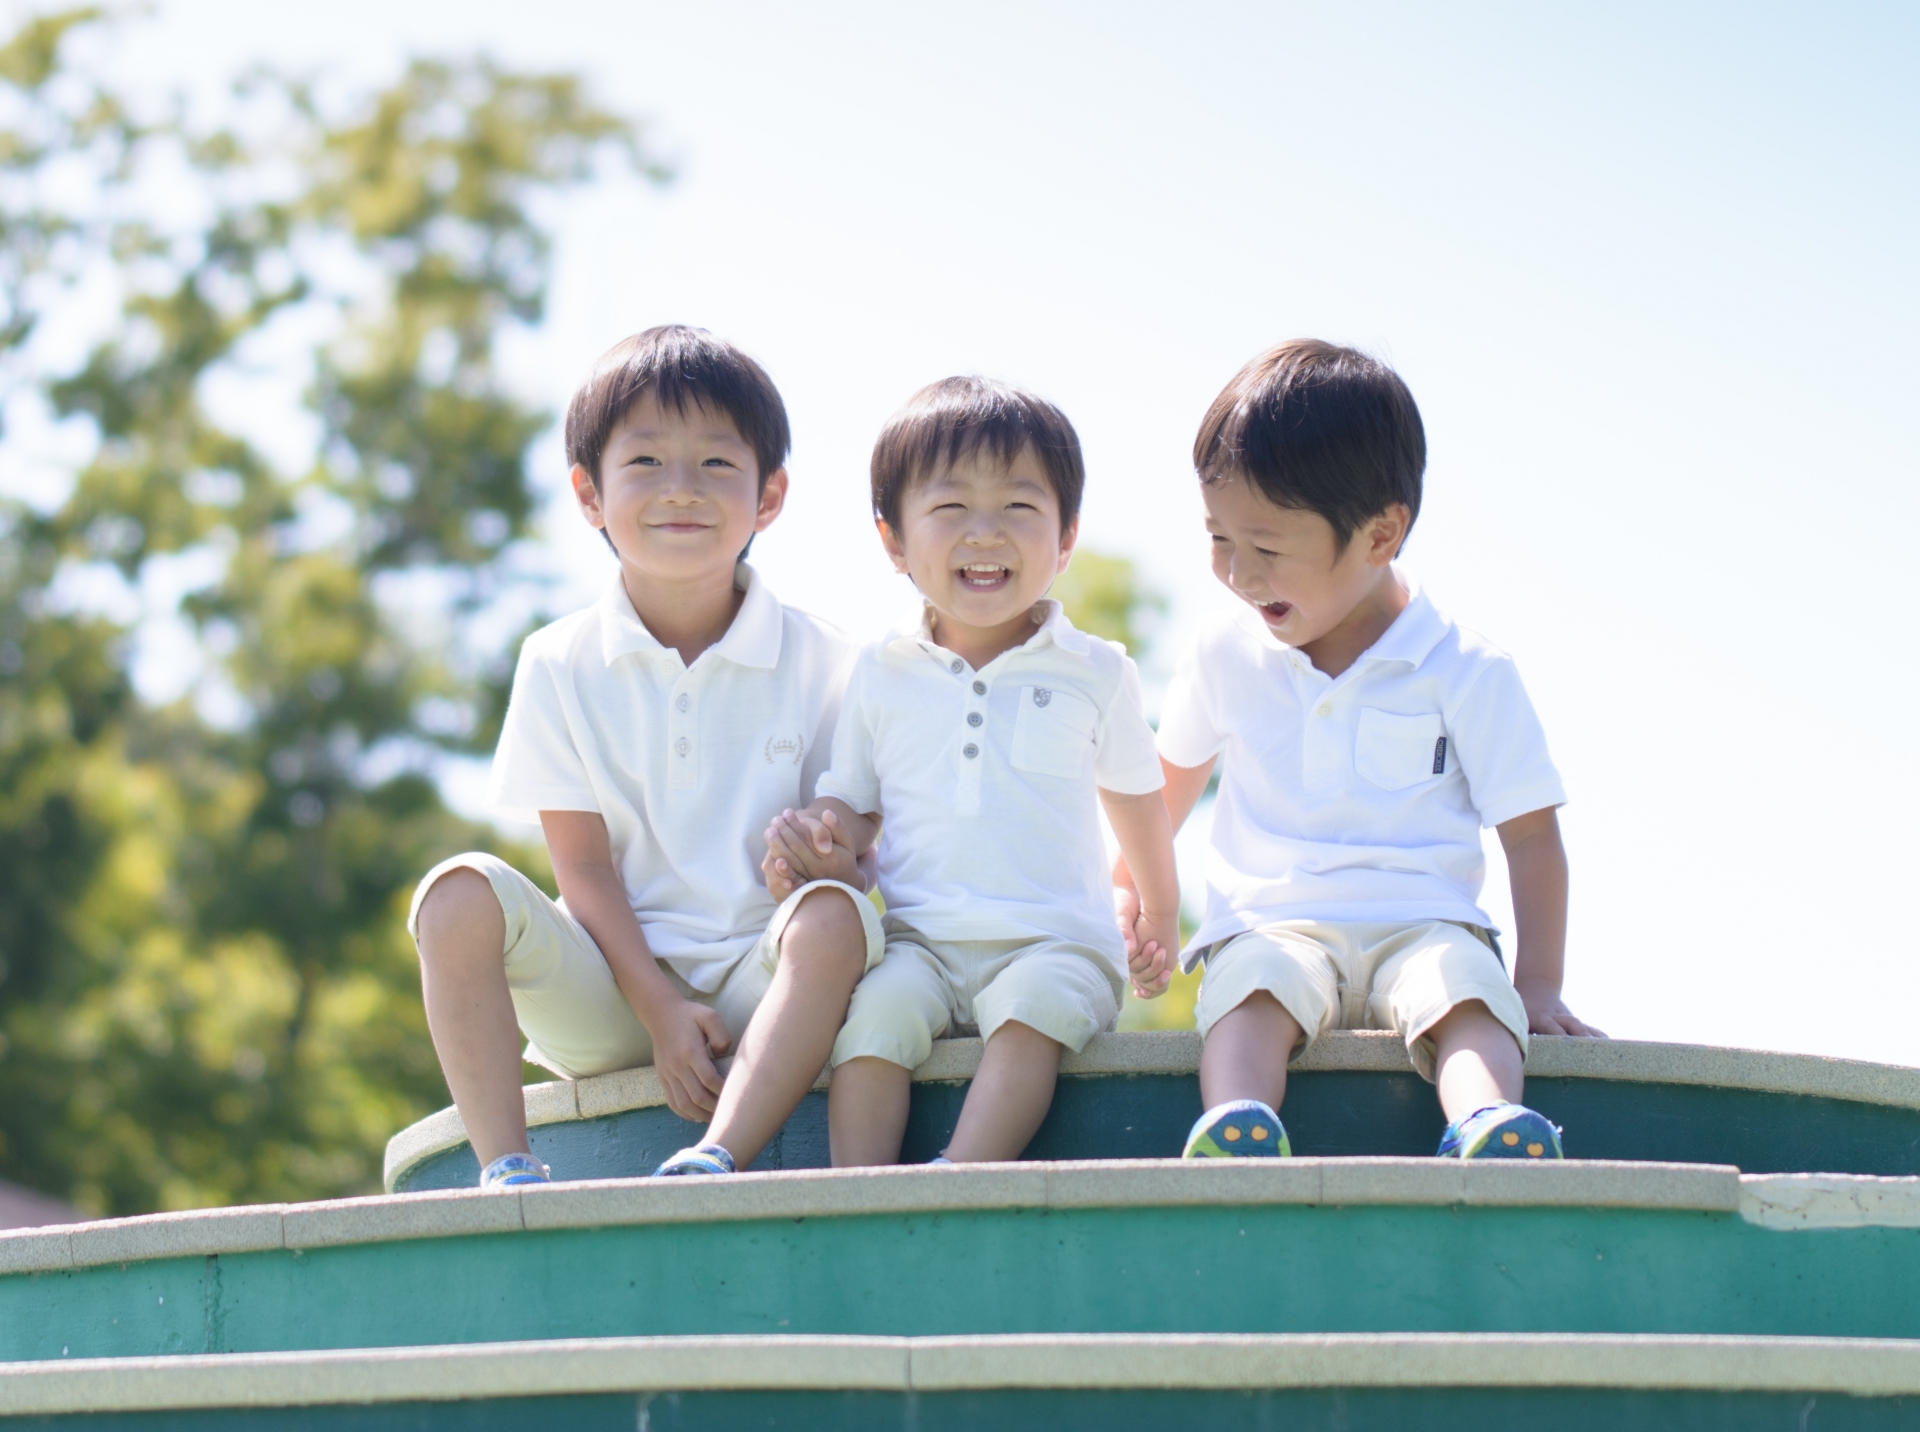
[[[647,395],[674,413],[691,405],[724,415],[753,449],[762,488],[787,461],[787,405],[766,369],[705,328],[668,322],[601,353],[566,405],[566,461],[588,470],[595,491],[614,424]]]

